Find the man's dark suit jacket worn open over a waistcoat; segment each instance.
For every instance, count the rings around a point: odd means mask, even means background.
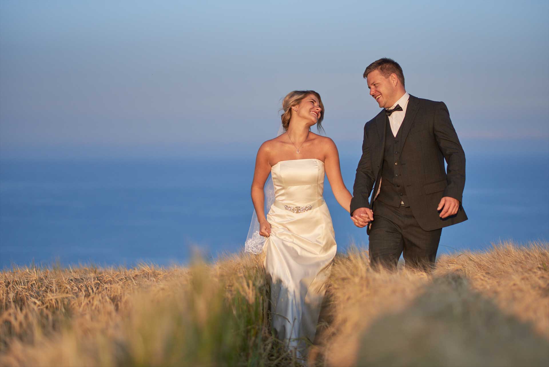
[[[356,168],[351,213],[357,208],[372,208],[383,168],[385,149],[385,111],[364,125],[362,157]],[[432,231],[467,220],[461,206],[465,186],[465,153],[453,128],[444,102],[410,96],[400,127],[404,139],[399,164],[407,204],[422,229]],[[447,171],[444,169],[446,159]],[[456,215],[441,219],[436,208],[449,196],[460,201]],[[376,214],[374,213],[374,221]],[[369,226],[368,226],[369,227]]]

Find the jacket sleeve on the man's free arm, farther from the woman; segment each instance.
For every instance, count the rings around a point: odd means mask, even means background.
[[[444,190],[444,196],[455,198],[461,203],[465,187],[465,152],[463,152],[444,102],[439,102],[436,106],[434,134],[447,163],[446,181],[448,186]]]

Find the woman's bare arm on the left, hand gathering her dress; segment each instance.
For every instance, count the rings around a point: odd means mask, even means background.
[[[251,201],[254,203],[255,214],[260,224],[260,235],[268,236],[271,232],[271,226],[265,218],[265,182],[271,173],[271,164],[269,163],[269,142],[261,144],[257,157],[255,158],[254,180],[251,182]],[[265,233],[266,232],[266,233]]]

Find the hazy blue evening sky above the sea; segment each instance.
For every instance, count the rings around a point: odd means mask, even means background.
[[[380,57],[462,140],[547,147],[548,18],[547,1],[0,1],[0,154],[237,150],[276,133],[295,89],[357,142]]]

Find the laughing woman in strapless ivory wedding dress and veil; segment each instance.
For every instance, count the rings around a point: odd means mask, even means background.
[[[283,134],[264,142],[257,152],[251,184],[257,230],[253,231],[253,223],[246,247],[264,252],[265,270],[271,278],[272,329],[301,356],[315,338],[336,252],[332,218],[322,196],[324,173],[338,203],[348,212],[351,194],[341,178],[334,142],[310,131],[313,125],[322,129],[320,94],[290,92],[282,110]],[[265,186],[269,174],[272,184]],[[264,187],[274,190],[266,217]],[[266,241],[258,241],[258,235]]]

